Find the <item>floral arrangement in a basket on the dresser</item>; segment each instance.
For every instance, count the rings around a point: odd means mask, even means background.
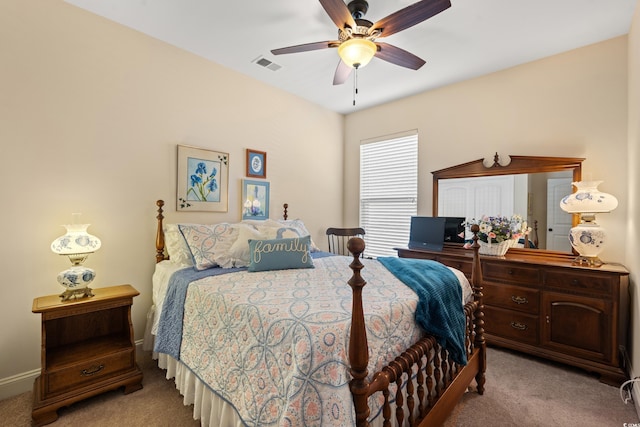
[[[479,252],[483,255],[504,256],[520,238],[529,233],[531,228],[520,215],[483,216],[480,220],[472,219],[466,225],[478,224]]]

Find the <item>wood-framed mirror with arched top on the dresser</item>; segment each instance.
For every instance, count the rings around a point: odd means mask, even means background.
[[[434,171],[433,216],[518,214],[532,227],[531,248],[522,250],[571,252],[567,235],[579,218],[562,211],[559,201],[573,191],[571,182],[582,179],[583,161],[496,153],[493,162],[478,159]]]

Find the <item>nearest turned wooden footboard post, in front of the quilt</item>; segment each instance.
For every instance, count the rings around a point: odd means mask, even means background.
[[[353,291],[349,336],[349,372],[353,379],[349,382],[349,388],[353,396],[356,426],[361,427],[369,425],[367,422],[369,417],[369,405],[367,403],[369,396],[369,381],[367,380],[369,347],[367,344],[367,331],[364,325],[364,311],[362,309],[362,288],[367,282],[360,276],[360,270],[364,267],[360,262],[360,254],[364,251],[364,240],[359,237],[353,237],[349,239],[347,248],[353,254],[353,261],[349,265],[353,275],[347,282]]]

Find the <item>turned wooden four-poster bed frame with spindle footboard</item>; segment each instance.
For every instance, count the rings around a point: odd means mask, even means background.
[[[158,206],[156,262],[160,262],[168,259],[165,254],[163,231],[164,201],[158,200],[156,205]],[[285,219],[288,217],[287,209],[288,205],[284,204],[283,217]],[[370,415],[368,398],[375,393],[381,392],[384,396],[382,408],[384,426],[421,427],[442,425],[474,379],[478,394],[483,394],[486,343],[484,339],[482,272],[478,255],[480,245],[477,243],[478,226],[472,226],[471,231],[474,233],[471,274],[474,298],[464,307],[467,318],[467,364],[462,366],[455,363],[433,336],[425,335],[380,372],[376,372],[371,380],[368,380],[369,348],[362,308],[362,289],[367,282],[360,274],[363,268],[360,255],[364,251],[365,243],[358,237],[349,241],[349,251],[353,254],[353,261],[349,265],[352,276],[348,281],[353,294],[348,356],[350,373],[353,378],[349,387],[353,396],[358,427],[369,425],[367,421]],[[390,396],[389,385],[393,383],[398,386],[396,388],[398,391],[394,396]],[[417,396],[417,399],[414,396]],[[392,417],[390,401],[393,400],[395,400],[396,410],[395,416]],[[414,414],[416,415],[414,416]]]

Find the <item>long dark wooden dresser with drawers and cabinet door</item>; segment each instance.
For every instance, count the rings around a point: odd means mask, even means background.
[[[398,248],[471,275],[472,254]],[[625,370],[629,272],[620,264],[572,265],[573,256],[510,249],[481,256],[487,343],[583,368],[619,386]]]

